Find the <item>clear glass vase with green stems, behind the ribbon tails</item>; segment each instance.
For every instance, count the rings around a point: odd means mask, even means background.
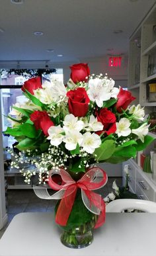
[[[56,205],[56,212],[58,210]],[[93,241],[93,229],[97,222],[97,215],[90,212],[81,198],[81,190],[77,190],[73,208],[67,220],[66,226],[60,226],[61,243],[70,248],[83,248]]]

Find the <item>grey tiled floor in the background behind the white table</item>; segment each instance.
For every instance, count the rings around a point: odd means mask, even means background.
[[[109,177],[106,186],[100,189],[98,192],[104,198],[109,192],[112,192],[112,183],[116,179],[118,186],[122,185],[122,178]],[[23,190],[8,190],[7,191],[7,214],[8,223],[0,231],[0,238],[5,232],[7,226],[16,214],[20,212],[52,212],[54,210],[55,200],[43,200],[34,194],[31,189]]]

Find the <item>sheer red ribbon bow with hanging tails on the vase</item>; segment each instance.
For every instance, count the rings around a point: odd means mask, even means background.
[[[64,183],[63,185],[58,185],[53,181],[52,175],[56,173],[61,176]],[[48,185],[58,192],[50,196],[50,198],[61,199],[56,213],[56,223],[61,226],[66,226],[74,204],[77,189],[79,188],[81,189],[81,196],[85,206],[94,214],[98,214],[95,228],[102,226],[105,221],[105,204],[100,194],[93,192],[93,190],[100,189],[106,182],[106,173],[98,167],[89,169],[79,181],[74,181],[69,173],[63,169],[52,169],[52,171],[50,171]]]

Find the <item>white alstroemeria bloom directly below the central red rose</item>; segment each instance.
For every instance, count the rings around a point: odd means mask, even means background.
[[[63,129],[66,131],[72,131],[72,130],[77,130],[81,131],[85,124],[83,121],[78,120],[77,117],[75,117],[73,114],[67,114],[65,116],[65,119],[63,121]]]

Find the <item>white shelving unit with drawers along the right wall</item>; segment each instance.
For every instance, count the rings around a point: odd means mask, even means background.
[[[156,83],[156,4],[130,38],[128,89],[136,97],[134,104],[144,107],[145,114],[156,112],[156,101],[149,101],[149,83]],[[149,135],[156,138],[156,133],[149,132]],[[149,155],[153,148],[156,148],[155,142],[142,153]],[[130,167],[130,190],[141,199],[156,201],[156,181],[141,169],[140,153],[136,161],[130,159],[127,163]]]

